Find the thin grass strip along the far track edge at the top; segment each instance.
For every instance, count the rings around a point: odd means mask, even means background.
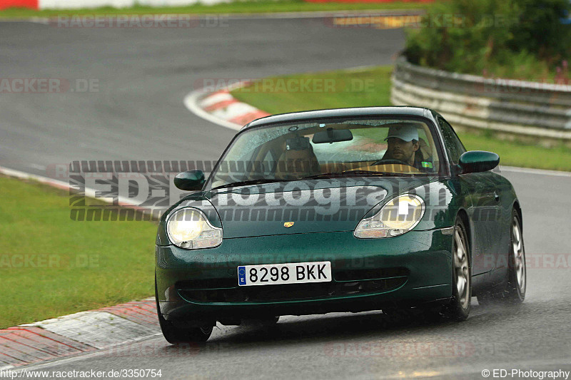
[[[302,0],[259,0],[233,1],[226,4],[211,6],[196,4],[191,6],[151,7],[133,6],[132,8],[116,9],[103,7],[98,9],[51,9],[34,11],[33,9],[11,8],[0,11],[0,17],[49,17],[64,15],[93,15],[93,14],[235,14],[235,13],[265,13],[293,11],[363,11],[391,9],[425,9],[427,3],[415,1],[395,1],[390,3],[308,3]]]

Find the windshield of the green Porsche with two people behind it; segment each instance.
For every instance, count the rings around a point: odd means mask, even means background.
[[[208,186],[436,174],[440,156],[433,128],[428,121],[394,117],[252,128],[226,150]]]

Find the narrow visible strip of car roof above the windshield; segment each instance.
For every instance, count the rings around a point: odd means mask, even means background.
[[[295,121],[310,121],[320,120],[323,118],[339,118],[339,117],[360,117],[360,116],[383,116],[383,115],[410,115],[410,116],[423,116],[431,118],[432,111],[428,108],[421,107],[355,107],[355,108],[332,108],[328,110],[317,111],[301,111],[292,113],[281,113],[279,115],[266,116],[253,120],[243,126],[241,130],[248,128],[258,127],[260,125],[274,124],[274,123],[287,123]]]

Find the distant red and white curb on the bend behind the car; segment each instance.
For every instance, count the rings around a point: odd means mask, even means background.
[[[247,86],[248,82],[239,83],[231,88],[223,88],[214,93],[196,90],[184,98],[184,105],[195,115],[223,127],[240,130],[252,120],[269,116],[266,111],[234,98],[230,91]]]

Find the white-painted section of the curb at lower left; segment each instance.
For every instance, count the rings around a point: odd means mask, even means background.
[[[41,327],[97,349],[152,337],[154,329],[108,312],[79,312],[22,326]]]

